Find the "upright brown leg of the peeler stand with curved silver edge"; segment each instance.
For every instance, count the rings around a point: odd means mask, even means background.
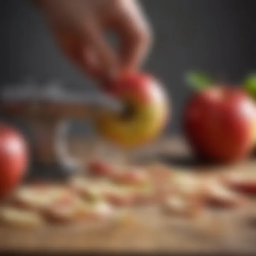
[[[63,179],[78,172],[79,161],[70,157],[67,145],[69,121],[33,120],[34,159],[32,176]]]

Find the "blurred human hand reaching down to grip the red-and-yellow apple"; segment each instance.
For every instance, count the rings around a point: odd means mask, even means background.
[[[94,79],[137,69],[151,45],[151,31],[135,0],[41,0],[38,6],[64,54]],[[113,49],[105,32],[117,33]]]

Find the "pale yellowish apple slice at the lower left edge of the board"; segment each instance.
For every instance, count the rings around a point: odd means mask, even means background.
[[[22,228],[37,228],[44,223],[39,214],[14,207],[2,207],[0,221],[4,225]]]

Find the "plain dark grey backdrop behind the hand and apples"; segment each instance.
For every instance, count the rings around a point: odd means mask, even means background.
[[[180,133],[182,107],[190,91],[187,70],[199,69],[239,83],[256,68],[254,0],[144,0],[155,44],[144,69],[164,82],[174,118],[168,132]],[[30,79],[59,80],[70,88],[95,90],[62,57],[43,18],[28,1],[0,1],[0,85]]]

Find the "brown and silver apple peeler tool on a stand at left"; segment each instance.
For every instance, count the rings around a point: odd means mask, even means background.
[[[2,90],[0,106],[2,120],[18,119],[32,134],[30,176],[51,179],[84,167],[81,160],[69,154],[67,134],[72,120],[93,123],[102,112],[118,114],[123,108],[107,94],[71,93],[62,87],[7,88]]]

